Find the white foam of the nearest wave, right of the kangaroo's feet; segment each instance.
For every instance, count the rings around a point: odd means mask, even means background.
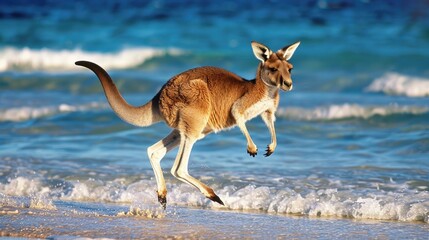
[[[325,189],[307,194],[248,186],[222,199],[230,209],[356,219],[428,222],[429,193],[353,192]],[[240,197],[237,198],[237,195]]]

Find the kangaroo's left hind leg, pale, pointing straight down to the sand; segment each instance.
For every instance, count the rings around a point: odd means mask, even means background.
[[[161,160],[169,152],[180,143],[179,131],[173,130],[167,137],[150,146],[147,149],[150,164],[152,165],[157,184],[158,201],[165,209],[167,206],[167,187],[165,185],[164,175],[161,169]]]

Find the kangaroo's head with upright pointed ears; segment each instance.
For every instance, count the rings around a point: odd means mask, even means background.
[[[259,68],[261,80],[269,87],[276,87],[284,91],[292,90],[292,64],[288,60],[298,48],[300,42],[286,46],[273,53],[271,49],[258,42],[252,42],[253,53],[261,60]]]

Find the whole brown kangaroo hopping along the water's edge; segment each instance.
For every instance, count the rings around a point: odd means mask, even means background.
[[[173,128],[168,136],[147,149],[157,182],[158,201],[164,209],[167,188],[160,162],[177,146],[179,151],[171,174],[196,187],[210,200],[224,205],[212,188],[188,173],[192,147],[207,134],[236,125],[246,137],[247,153],[255,157],[258,148],[250,137],[246,121],[260,115],[271,134],[271,143],[264,154],[270,156],[277,146],[274,114],[279,104],[279,90],[292,90],[293,66],[288,60],[299,44],[296,42],[274,53],[253,41],[253,53],[261,61],[255,79],[246,80],[221,68],[198,67],[171,78],[152,100],[139,107],[124,100],[103,68],[88,61],[75,64],[89,68],[97,75],[110,106],[125,122],[146,127],[164,121]]]

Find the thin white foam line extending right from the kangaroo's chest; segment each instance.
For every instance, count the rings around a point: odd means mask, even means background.
[[[279,117],[295,120],[339,120],[346,118],[371,118],[393,114],[422,114],[428,112],[426,107],[417,106],[362,106],[359,104],[341,104],[316,107],[313,109],[288,107],[277,111]]]

